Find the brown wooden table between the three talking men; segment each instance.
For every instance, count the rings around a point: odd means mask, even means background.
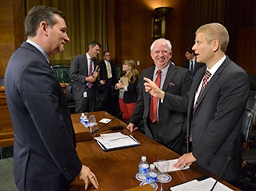
[[[110,114],[102,111],[91,114],[95,114],[97,121],[103,117],[110,119],[114,118]],[[90,115],[90,113],[88,113],[88,115]],[[98,127],[102,125],[102,123],[99,123]],[[118,119],[114,119],[100,131],[104,131],[113,125],[122,125],[123,127],[126,127],[125,123]],[[133,135],[141,145],[105,152],[93,139],[77,143],[77,152],[82,164],[90,167],[92,172],[96,174],[100,184],[98,189],[94,189],[93,185],[90,185],[88,190],[122,191],[138,186],[141,181],[138,181],[135,178],[135,175],[138,173],[138,163],[140,162],[142,155],[147,157],[149,163],[158,161],[158,159],[170,160],[179,157],[178,153],[174,153],[172,150],[160,145],[149,137],[146,137],[143,133],[130,133],[126,128],[120,130],[120,132]],[[193,180],[194,178],[202,177],[203,175],[214,177],[204,169],[198,167],[198,165],[194,164],[190,166],[190,169],[170,172],[169,174],[172,177],[172,181],[163,184],[163,190],[166,191],[169,190],[170,186],[182,184],[186,181]],[[216,177],[214,178],[216,179]],[[225,181],[221,182],[228,185],[231,189],[240,190]],[[84,182],[76,177],[70,185],[70,190],[84,190]],[[158,183],[158,190],[160,190],[160,183]]]

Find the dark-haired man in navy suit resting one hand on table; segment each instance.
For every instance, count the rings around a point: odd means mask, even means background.
[[[61,11],[34,6],[25,20],[26,42],[5,73],[6,100],[14,129],[14,179],[18,190],[68,190],[80,174],[85,188],[98,181],[82,165],[65,95],[49,57],[70,39]]]

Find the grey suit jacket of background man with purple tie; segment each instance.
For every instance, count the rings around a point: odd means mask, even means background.
[[[98,60],[94,58],[94,70],[98,65]],[[86,90],[87,82],[85,78],[88,77],[88,66],[86,54],[75,56],[70,66],[70,79],[73,80],[72,94],[75,100],[83,97],[83,92]],[[94,82],[93,90],[97,90],[97,82]]]

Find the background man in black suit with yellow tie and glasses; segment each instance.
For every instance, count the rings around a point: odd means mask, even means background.
[[[100,66],[100,88],[99,93],[103,97],[103,109],[111,115],[116,115],[116,105],[113,96],[114,85],[118,82],[114,64],[110,62],[110,52],[103,53],[104,60],[99,63]]]

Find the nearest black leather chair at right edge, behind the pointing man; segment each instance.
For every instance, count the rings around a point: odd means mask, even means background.
[[[250,133],[254,123],[254,111],[247,108],[244,113],[241,129],[241,141],[242,141],[242,177],[249,177],[250,181],[256,181],[256,150],[248,149],[250,144]]]

